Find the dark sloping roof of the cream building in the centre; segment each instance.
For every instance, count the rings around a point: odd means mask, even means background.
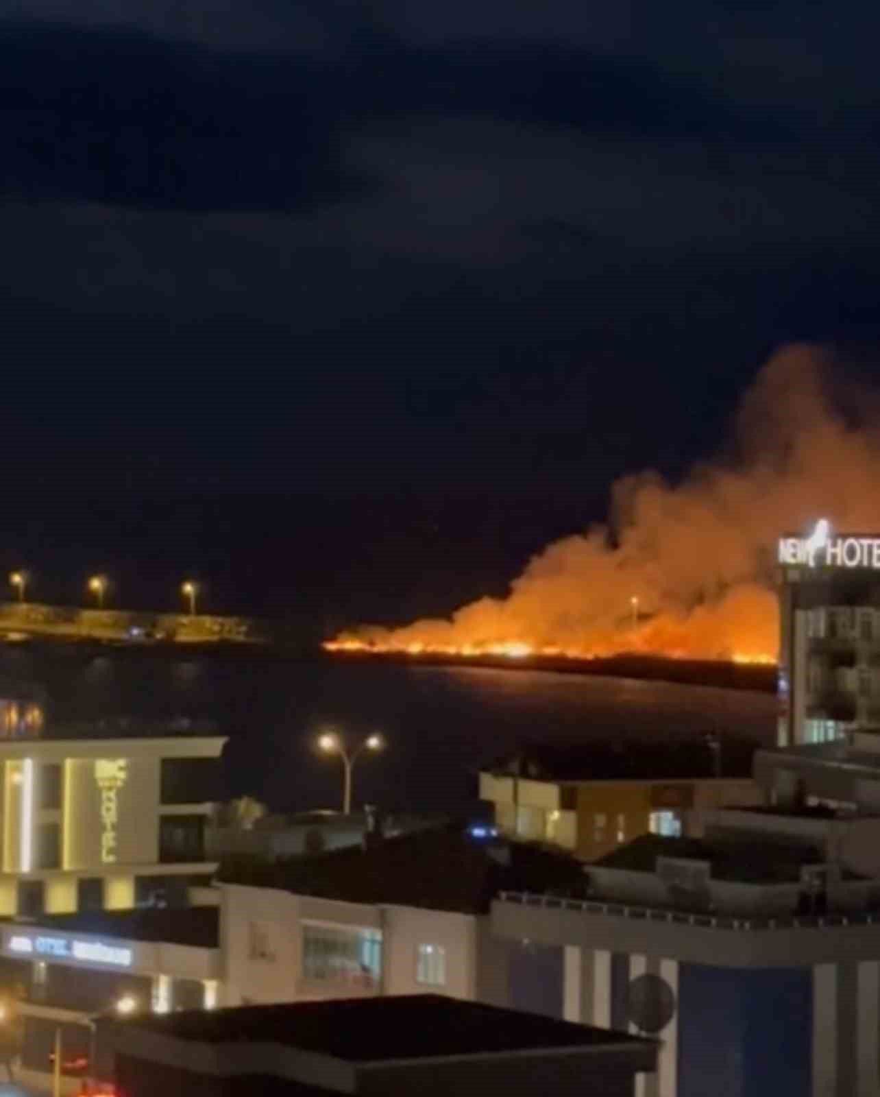
[[[271,864],[224,864],[224,883],[275,887],[348,903],[396,904],[486,914],[493,896],[511,891],[586,894],[579,861],[526,842],[477,840],[459,827],[386,838]]]

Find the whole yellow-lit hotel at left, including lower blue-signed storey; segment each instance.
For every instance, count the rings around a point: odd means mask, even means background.
[[[70,1088],[93,1066],[92,1015],[121,996],[159,1011],[218,999],[204,834],[226,740],[19,724],[0,738],[0,994],[27,1079],[47,1084],[59,1032]]]

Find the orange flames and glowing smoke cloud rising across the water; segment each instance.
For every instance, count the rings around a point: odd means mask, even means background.
[[[619,480],[608,522],[548,545],[506,598],[449,619],[361,625],[325,648],[772,664],[780,533],[823,514],[836,529],[880,528],[880,402],[839,372],[830,350],[783,348],[746,393],[717,459],[681,484],[651,471]]]

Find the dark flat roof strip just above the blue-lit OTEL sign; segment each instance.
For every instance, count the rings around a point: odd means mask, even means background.
[[[4,919],[3,925],[89,934],[124,941],[219,948],[219,907],[135,907],[131,911],[79,911],[43,914],[33,920]]]

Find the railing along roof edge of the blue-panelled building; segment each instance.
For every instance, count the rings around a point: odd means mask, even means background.
[[[823,929],[833,926],[880,926],[880,911],[855,911],[792,918],[733,918],[715,914],[693,914],[656,906],[632,906],[628,903],[609,903],[600,900],[566,898],[532,892],[499,892],[503,903],[537,906],[545,911],[576,911],[582,914],[613,915],[643,921],[666,921],[703,929]]]

